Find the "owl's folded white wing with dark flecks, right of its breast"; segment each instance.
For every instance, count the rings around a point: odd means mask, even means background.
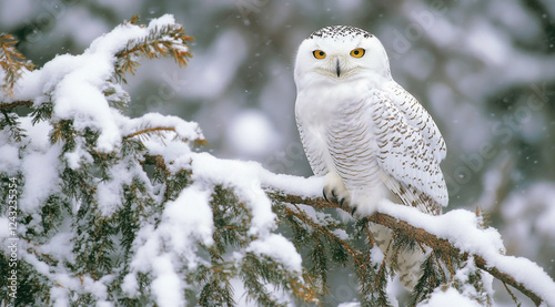
[[[386,174],[383,178],[385,185],[405,205],[440,214],[441,207],[447,205],[448,196],[440,168],[442,157],[437,151],[441,147],[430,144],[433,140],[430,135],[434,136],[434,133],[427,125],[433,123],[432,119],[423,112],[424,109],[404,113],[383,91],[372,90],[367,99],[372,105],[376,157]],[[435,124],[433,129],[436,129]],[[438,137],[438,143],[443,143],[441,135]]]

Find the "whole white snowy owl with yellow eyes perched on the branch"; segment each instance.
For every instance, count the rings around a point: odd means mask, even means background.
[[[325,176],[324,197],[359,215],[372,214],[384,198],[441,214],[445,143],[430,114],[391,76],[376,37],[347,25],[315,31],[299,48],[294,79],[296,124],[312,171]],[[382,248],[391,232],[373,231]],[[407,258],[397,269],[401,282],[412,288],[422,254],[400,257]]]

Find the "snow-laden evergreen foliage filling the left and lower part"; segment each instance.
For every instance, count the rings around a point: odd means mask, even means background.
[[[484,270],[492,270],[452,243],[383,214],[344,222],[336,214],[340,205],[287,195],[275,186],[262,190],[259,183],[252,186],[254,196],[245,196],[239,183],[214,180],[193,167],[186,154],[205,145],[194,123],[153,114],[127,117],[124,110],[131,101],[121,82],[127,73],[135,72],[139,58],[171,57],[185,65],[191,57],[188,44],[192,38],[181,25],[138,22],[133,18],[119,29],[148,31],[111,49],[111,73],[97,84],[109,110],[121,121],[121,133],[109,145],[104,126],[73,113],[57,113],[60,84],[46,86],[32,101],[18,100],[17,91],[24,90],[18,88],[18,80],[32,64],[14,49],[12,37],[0,37],[1,137],[17,149],[20,160],[40,152],[54,157],[43,163],[56,161],[56,176],[44,183],[42,195],[28,194],[38,190],[30,186],[37,182],[24,163],[2,168],[0,174],[1,199],[9,198],[12,182],[19,183],[21,199],[17,298],[11,299],[10,289],[0,284],[2,306],[174,306],[184,301],[189,306],[235,306],[238,287],[260,306],[286,306],[289,301],[317,306],[326,304],[330,272],[340,267],[356,276],[361,306],[392,306],[386,286],[395,274],[396,255],[415,248],[431,252],[422,264],[411,306],[446,288],[481,306],[492,305],[484,280]],[[28,134],[36,134],[39,125],[49,130],[42,147]],[[183,151],[184,158],[164,152],[170,145]],[[262,198],[256,198],[259,192]],[[253,199],[271,202],[269,214],[275,224],[259,225],[258,206],[263,204]],[[211,221],[194,224],[194,218],[203,218],[195,211],[203,209]],[[9,216],[6,206],[0,211],[2,217]],[[185,225],[180,218],[193,224]],[[373,246],[370,223],[395,232],[382,260],[373,255],[381,252]],[[210,225],[208,233],[205,225]],[[172,233],[174,229],[183,233]],[[264,239],[284,237],[302,256],[301,270],[289,266],[291,259],[283,254],[254,247]],[[57,246],[65,249],[52,249]],[[1,255],[0,275],[7,276],[10,254],[4,249]],[[389,257],[391,265],[385,260]]]

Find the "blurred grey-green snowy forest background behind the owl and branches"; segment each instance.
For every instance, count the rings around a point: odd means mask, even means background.
[[[193,59],[185,69],[144,61],[128,78],[129,115],[199,122],[218,157],[310,176],[294,121],[296,49],[325,25],[365,29],[445,137],[446,209],[483,208],[507,254],[555,277],[555,1],[0,0],[0,32],[40,66],[133,14],[164,13],[195,38]]]

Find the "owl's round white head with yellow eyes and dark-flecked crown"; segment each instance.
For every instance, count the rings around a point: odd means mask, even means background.
[[[349,25],[322,28],[305,39],[295,61],[295,82],[303,78],[391,79],[387,54],[373,34]]]

